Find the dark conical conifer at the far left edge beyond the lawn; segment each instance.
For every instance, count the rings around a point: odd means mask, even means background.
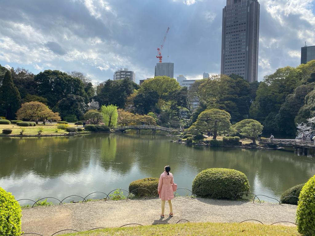
[[[11,73],[8,70],[0,87],[0,107],[4,110],[7,119],[15,117],[15,112],[20,106],[20,100],[19,90],[14,85]]]

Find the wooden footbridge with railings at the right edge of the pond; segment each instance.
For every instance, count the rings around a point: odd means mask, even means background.
[[[268,139],[262,138],[259,143],[267,145],[291,146],[297,155],[315,156],[315,143],[311,141],[303,141],[301,139]]]

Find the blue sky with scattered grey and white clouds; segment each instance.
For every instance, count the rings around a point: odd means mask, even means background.
[[[315,0],[260,0],[258,79],[300,64],[301,47],[315,45]],[[174,77],[220,73],[222,8],[226,0],[3,0],[0,64],[80,71],[94,82],[118,68],[152,77],[159,42]],[[168,57],[169,56],[169,57]]]

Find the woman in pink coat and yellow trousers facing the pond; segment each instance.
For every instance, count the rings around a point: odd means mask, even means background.
[[[169,173],[171,167],[165,166],[164,172],[160,176],[160,180],[158,182],[157,192],[159,194],[159,198],[162,200],[162,214],[161,217],[164,218],[164,208],[165,201],[169,202],[169,216],[173,216],[173,205],[172,199],[174,198],[172,184],[174,184],[173,174]]]

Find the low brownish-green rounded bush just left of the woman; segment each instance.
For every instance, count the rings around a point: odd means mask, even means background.
[[[131,182],[129,185],[129,193],[132,192],[136,197],[154,197],[157,196],[158,178],[144,178]],[[137,189],[146,188],[146,189]],[[135,190],[137,189],[137,190]]]

